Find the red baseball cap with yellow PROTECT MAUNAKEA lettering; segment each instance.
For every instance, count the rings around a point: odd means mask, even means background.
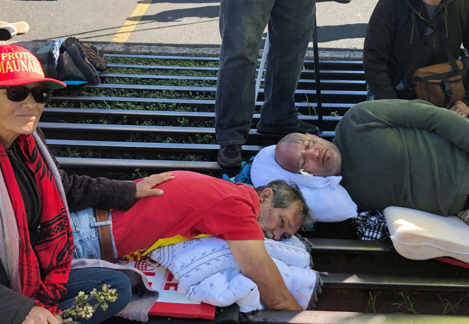
[[[42,82],[49,89],[67,86],[59,80],[45,78],[41,63],[26,48],[0,45],[0,86],[20,86],[33,82]]]

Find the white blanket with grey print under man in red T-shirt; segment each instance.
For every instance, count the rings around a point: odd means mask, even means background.
[[[282,241],[266,238],[265,244],[300,306],[315,306],[322,280],[310,269],[310,255],[304,244],[296,237]],[[173,273],[179,281],[178,292],[192,301],[222,307],[236,302],[241,312],[264,308],[257,285],[243,276],[225,240],[196,238],[160,247],[149,257]]]

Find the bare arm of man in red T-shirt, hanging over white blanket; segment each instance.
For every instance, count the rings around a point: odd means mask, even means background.
[[[301,310],[269,257],[263,240],[227,242],[241,271],[257,284],[261,301],[269,309]]]

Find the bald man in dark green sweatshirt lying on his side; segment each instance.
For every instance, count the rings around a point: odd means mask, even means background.
[[[345,113],[329,142],[285,136],[277,163],[292,173],[341,175],[367,210],[407,207],[455,215],[469,208],[469,121],[421,100],[376,100]]]

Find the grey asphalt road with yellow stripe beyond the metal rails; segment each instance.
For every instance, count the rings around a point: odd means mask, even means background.
[[[321,53],[360,56],[376,2],[318,0]],[[139,46],[175,54],[188,50],[216,55],[221,43],[219,9],[220,1],[213,0],[0,0],[1,21],[30,25],[26,34],[0,43],[30,45],[74,36],[113,45],[116,51]]]

